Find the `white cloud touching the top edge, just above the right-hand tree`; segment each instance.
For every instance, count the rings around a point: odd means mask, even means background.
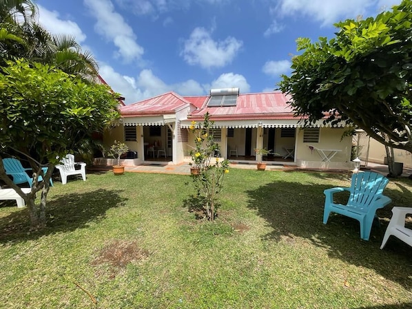
[[[281,15],[305,14],[322,25],[332,25],[342,19],[356,19],[375,4],[376,0],[280,0],[278,8]]]

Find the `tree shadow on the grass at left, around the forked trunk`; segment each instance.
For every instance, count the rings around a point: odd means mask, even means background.
[[[48,200],[46,227],[34,232],[29,232],[28,209],[16,207],[9,215],[0,217],[0,243],[25,242],[43,235],[85,228],[90,222],[102,220],[107,210],[122,206],[123,202],[125,198],[121,198],[117,190],[99,189],[59,195]]]

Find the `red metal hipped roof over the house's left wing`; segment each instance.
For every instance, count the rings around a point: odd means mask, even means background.
[[[167,92],[160,96],[147,98],[146,100],[122,106],[122,116],[158,116],[163,114],[174,114],[178,109],[190,104],[188,100],[174,92]]]

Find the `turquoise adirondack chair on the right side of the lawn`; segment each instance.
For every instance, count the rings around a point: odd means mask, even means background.
[[[360,222],[360,238],[369,240],[375,212],[391,202],[391,199],[383,195],[389,179],[373,172],[353,173],[350,188],[331,188],[325,193],[325,209],[323,212],[323,224],[327,224],[329,213],[346,215]],[[333,202],[333,194],[349,191],[349,200],[346,205]]]

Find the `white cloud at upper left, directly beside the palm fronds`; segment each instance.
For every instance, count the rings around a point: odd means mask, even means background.
[[[59,17],[59,12],[49,11],[43,6],[39,6],[39,23],[51,34],[70,34],[76,38],[76,42],[81,44],[86,39],[86,35],[81,31],[79,25],[74,21],[63,20]]]

